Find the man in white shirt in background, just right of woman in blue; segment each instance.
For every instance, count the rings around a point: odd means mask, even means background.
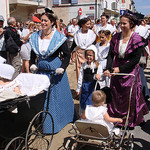
[[[68,28],[68,36],[69,36],[69,48],[71,48],[73,39],[74,39],[74,34],[79,30],[79,26],[77,25],[77,19],[73,18],[72,19],[72,25],[69,26]]]

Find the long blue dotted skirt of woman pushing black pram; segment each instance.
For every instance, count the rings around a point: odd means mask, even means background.
[[[58,57],[44,60],[39,59],[38,68],[56,70],[61,66],[61,63],[62,62]],[[50,78],[52,71],[40,71],[39,73],[45,74]],[[47,94],[44,110],[46,110],[47,101],[49,101],[48,111],[54,120],[54,133],[57,133],[68,123],[73,122],[75,111],[67,73],[64,72],[62,75],[54,75],[51,84],[52,88],[50,89],[50,97],[48,99]],[[46,134],[52,133],[51,119],[48,117],[44,122],[43,132]]]

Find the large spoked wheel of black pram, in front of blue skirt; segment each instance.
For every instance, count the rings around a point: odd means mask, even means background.
[[[51,123],[50,123],[51,121]],[[34,116],[26,132],[26,150],[48,150],[54,134],[54,122],[48,111],[41,111]]]

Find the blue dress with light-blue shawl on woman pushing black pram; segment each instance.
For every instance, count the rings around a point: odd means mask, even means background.
[[[41,34],[42,31],[35,32],[30,39],[31,46],[35,54],[38,55],[38,69],[56,70],[57,68],[63,68],[65,70],[70,60],[66,37],[57,30],[54,30],[53,36],[49,40],[49,45],[46,48],[45,44],[43,46],[41,45]],[[45,42],[47,43],[47,41]],[[39,47],[45,47],[46,51],[40,51]],[[60,53],[64,56],[63,60],[59,57]],[[52,71],[39,71],[39,73],[45,74],[50,78]],[[54,119],[54,133],[57,133],[73,121],[74,103],[66,71],[64,74],[54,75],[51,84],[53,84],[53,87],[50,90],[50,98],[45,101],[44,110],[46,110],[47,101],[49,101],[49,112]],[[44,133],[52,132],[51,128],[49,129],[50,123],[51,120],[47,118],[43,126]]]

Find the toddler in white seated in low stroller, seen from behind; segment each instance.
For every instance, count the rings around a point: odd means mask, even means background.
[[[93,105],[87,105],[85,111],[81,114],[82,119],[99,123],[107,127],[109,133],[112,131],[115,122],[122,122],[121,118],[112,118],[107,113],[107,108],[104,106],[106,95],[102,90],[94,91],[92,94]],[[115,132],[116,130],[114,130]],[[115,132],[116,133],[116,132]]]

